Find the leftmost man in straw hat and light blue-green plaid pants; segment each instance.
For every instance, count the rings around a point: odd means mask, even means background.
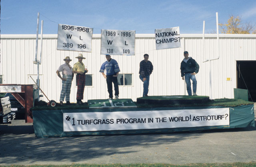
[[[72,73],[72,67],[69,65],[69,62],[72,60],[69,58],[69,56],[67,56],[63,60],[66,63],[62,64],[56,71],[56,74],[62,80],[62,89],[60,92],[60,105],[63,105],[65,96],[66,96],[66,104],[70,105],[70,88],[71,88],[74,74]],[[62,72],[62,77],[60,76],[60,72]]]

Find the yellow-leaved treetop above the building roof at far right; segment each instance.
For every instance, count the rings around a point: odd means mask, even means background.
[[[222,34],[256,34],[256,29],[251,23],[242,23],[240,16],[231,15],[228,22],[220,23],[220,32]]]

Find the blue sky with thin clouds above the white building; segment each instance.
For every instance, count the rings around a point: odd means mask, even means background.
[[[58,24],[101,29],[136,30],[180,26],[180,34],[216,31],[231,14],[256,24],[256,0],[1,0],[1,34],[36,34],[37,13],[44,20],[44,34],[58,34]],[[39,30],[40,33],[40,30]]]

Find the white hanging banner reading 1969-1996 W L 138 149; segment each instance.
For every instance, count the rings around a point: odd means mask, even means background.
[[[101,30],[101,54],[134,55],[135,31]]]

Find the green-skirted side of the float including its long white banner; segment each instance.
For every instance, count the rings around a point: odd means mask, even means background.
[[[36,137],[255,127],[254,105],[32,110]]]

